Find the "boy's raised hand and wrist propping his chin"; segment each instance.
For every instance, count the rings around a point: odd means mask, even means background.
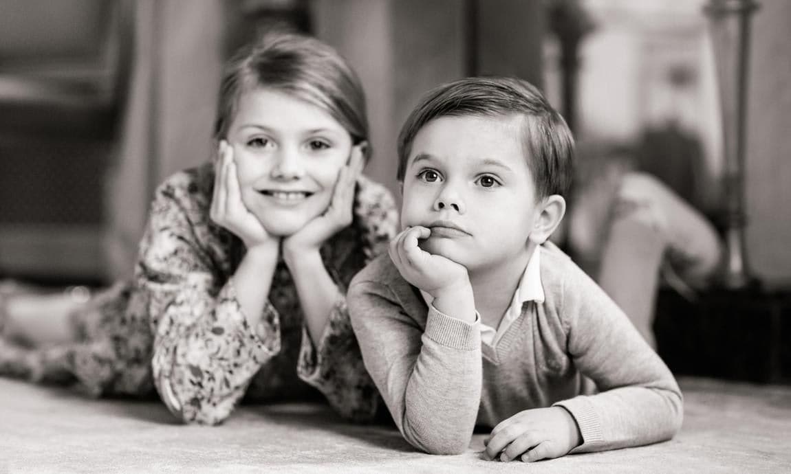
[[[434,297],[433,307],[442,313],[475,321],[475,299],[470,278],[463,265],[426,252],[418,239],[427,239],[431,230],[407,228],[390,241],[390,258],[404,280]]]

